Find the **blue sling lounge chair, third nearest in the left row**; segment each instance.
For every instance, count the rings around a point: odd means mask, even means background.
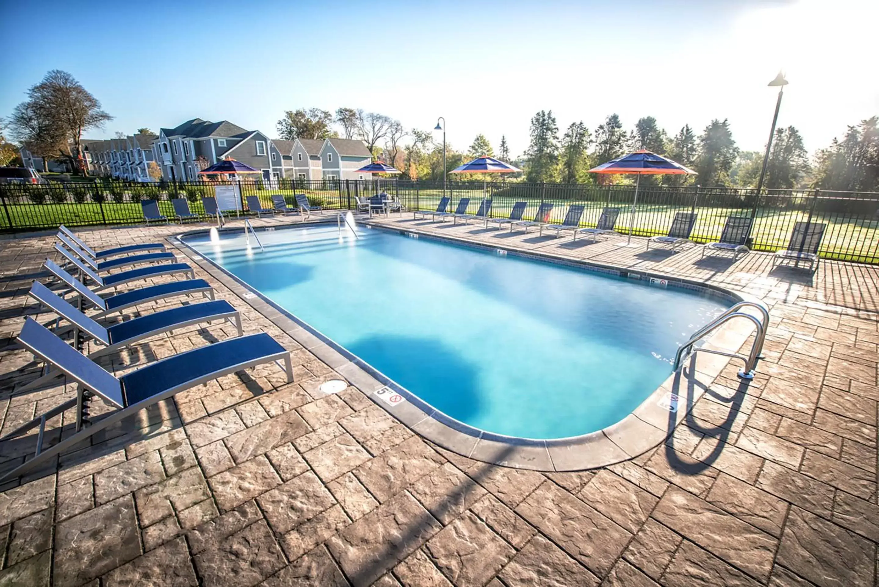
[[[215,299],[214,288],[203,279],[185,279],[167,283],[158,283],[139,290],[126,291],[110,297],[100,297],[94,291],[90,290],[86,285],[70,275],[61,268],[54,260],[47,259],[43,263],[43,267],[49,270],[49,273],[57,277],[65,283],[71,290],[75,291],[79,296],[79,310],[83,310],[83,306],[87,302],[88,305],[94,306],[98,312],[91,315],[91,319],[102,319],[105,316],[115,312],[124,312],[128,308],[139,304],[149,304],[159,299],[169,299],[171,297],[191,296],[193,294],[201,294],[203,297]]]

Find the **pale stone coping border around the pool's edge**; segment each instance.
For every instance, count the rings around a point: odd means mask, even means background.
[[[330,221],[330,218],[323,218],[308,223],[282,224],[278,227],[272,227],[272,229],[314,226]],[[664,280],[665,287],[694,290],[730,303],[756,299],[742,292],[725,290],[707,283],[688,281],[667,275],[628,271],[591,261],[563,259],[547,253],[525,252],[512,247],[485,246],[461,238],[438,237],[424,232],[393,229],[368,223],[366,225],[369,230],[407,235],[418,234],[418,238],[428,238],[483,252],[504,251],[505,256],[541,260],[556,265],[628,277],[643,282],[650,282],[651,278]],[[257,229],[257,231],[260,230],[265,229]],[[238,228],[221,229],[221,232],[242,231]],[[651,393],[630,415],[605,429],[577,437],[551,440],[506,437],[476,429],[439,412],[416,394],[411,393],[402,385],[396,384],[381,371],[376,370],[360,357],[353,355],[304,320],[297,318],[292,312],[275,304],[269,297],[254,290],[185,242],[185,238],[206,233],[207,231],[204,229],[187,231],[169,237],[167,240],[172,246],[184,253],[189,261],[194,262],[222,282],[257,312],[271,320],[275,326],[280,327],[304,349],[309,350],[323,363],[338,372],[350,385],[358,388],[374,403],[387,410],[399,422],[432,443],[470,459],[542,472],[580,471],[634,459],[658,444],[662,444],[667,437],[671,436],[674,428],[683,421],[696,400],[701,397],[703,386],[710,385],[730,362],[729,358],[716,355],[699,355],[699,361],[694,360],[695,355],[691,356],[688,361],[689,369],[686,368],[685,364],[684,368],[672,373],[663,385]],[[750,324],[745,324],[742,321],[730,321],[720,327],[708,339],[707,344],[728,352],[737,352],[750,333]],[[718,345],[716,342],[720,344]],[[406,401],[393,406],[382,401],[375,392],[385,387],[399,393]],[[671,411],[667,407],[670,402],[669,398],[677,398],[674,402],[675,411]],[[683,402],[683,406],[680,405],[680,402]]]

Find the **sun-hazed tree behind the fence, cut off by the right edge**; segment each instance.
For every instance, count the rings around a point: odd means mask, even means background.
[[[871,192],[879,189],[879,117],[850,126],[816,155],[816,185],[823,189]]]

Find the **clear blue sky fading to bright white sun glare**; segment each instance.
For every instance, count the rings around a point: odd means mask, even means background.
[[[670,134],[729,118],[761,150],[784,69],[779,124],[815,150],[879,114],[876,22],[875,0],[4,2],[0,116],[61,69],[116,117],[96,137],[196,116],[276,136],[284,110],[352,106],[407,128],[443,115],[456,148],[506,135],[517,156],[552,109],[562,131],[614,112]]]

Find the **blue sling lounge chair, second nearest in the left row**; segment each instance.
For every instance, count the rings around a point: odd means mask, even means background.
[[[241,315],[233,305],[224,299],[180,305],[170,310],[162,310],[139,318],[117,322],[110,327],[102,327],[40,282],[33,282],[28,293],[40,304],[57,314],[59,318],[68,321],[101,345],[100,349],[89,355],[91,358],[104,356],[120,349],[120,347],[127,347],[137,341],[156,336],[156,334],[213,320],[229,320],[235,323],[238,336],[243,334]]]

